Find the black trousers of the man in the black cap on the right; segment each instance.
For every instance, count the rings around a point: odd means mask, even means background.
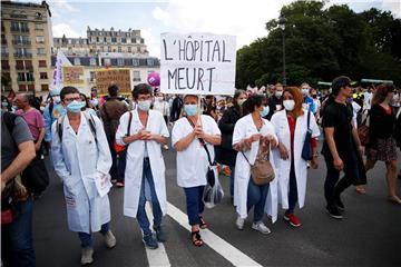
[[[344,162],[344,177],[340,179],[340,170],[336,170],[333,165],[333,158],[324,156],[324,160],[327,167],[326,179],[324,181],[324,197],[327,202],[327,207],[335,207],[335,198],[355,184],[359,179],[358,160],[343,160]]]

